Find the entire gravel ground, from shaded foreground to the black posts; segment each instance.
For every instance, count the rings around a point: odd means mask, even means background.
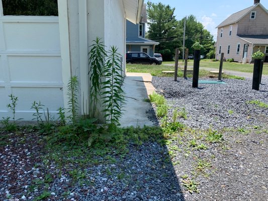
[[[268,111],[248,103],[268,103],[268,81],[260,91],[251,80],[225,81],[193,89],[184,79],[154,77],[169,119],[185,108],[178,121],[187,127],[155,142],[130,141],[124,153],[57,152],[36,131],[0,132],[0,200],[268,200]]]

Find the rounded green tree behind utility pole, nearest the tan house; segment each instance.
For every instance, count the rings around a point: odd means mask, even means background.
[[[185,18],[178,22],[180,28],[184,28]],[[189,54],[194,53],[192,45],[195,42],[200,42],[203,45],[201,49],[201,54],[206,55],[211,49],[213,49],[214,41],[213,35],[206,29],[202,23],[198,22],[196,17],[190,15],[186,17],[186,39],[185,47],[189,49]]]

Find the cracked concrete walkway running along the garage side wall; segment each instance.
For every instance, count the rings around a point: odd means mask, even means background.
[[[126,105],[120,120],[121,127],[153,126],[154,123],[146,115],[146,111],[152,109],[152,106],[144,101],[155,89],[151,81],[150,73],[127,73],[123,84]]]

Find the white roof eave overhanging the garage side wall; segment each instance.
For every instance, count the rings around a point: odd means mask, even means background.
[[[144,0],[123,0],[126,19],[137,24],[140,22]]]

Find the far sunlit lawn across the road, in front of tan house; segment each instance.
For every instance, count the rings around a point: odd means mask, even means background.
[[[163,64],[170,64],[172,62],[167,61],[163,62]],[[174,62],[173,62],[174,63]],[[183,61],[179,61],[179,65],[184,65]],[[194,65],[194,60],[188,60],[188,65],[193,66]],[[220,66],[219,61],[211,61],[210,59],[203,59],[200,61],[200,66],[201,67],[206,67],[206,68],[216,68],[218,69]],[[233,71],[239,71],[239,72],[253,72],[253,64],[241,64],[241,63],[236,63],[236,62],[223,62],[223,71],[224,69],[226,70],[233,70]],[[268,75],[268,65],[264,64],[263,66],[263,72],[264,75]]]

